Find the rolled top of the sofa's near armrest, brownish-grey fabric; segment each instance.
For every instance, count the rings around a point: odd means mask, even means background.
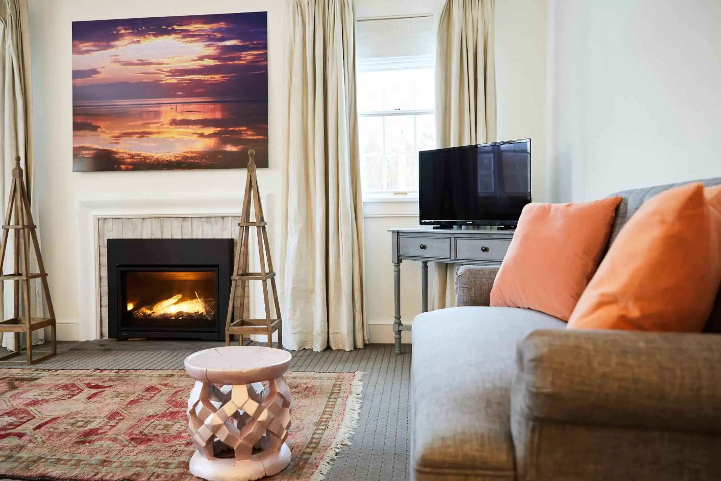
[[[721,335],[531,332],[512,405],[531,422],[721,433]]]

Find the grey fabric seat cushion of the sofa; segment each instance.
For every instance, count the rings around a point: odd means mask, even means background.
[[[516,341],[566,323],[529,309],[454,307],[413,322],[411,477],[514,480]]]

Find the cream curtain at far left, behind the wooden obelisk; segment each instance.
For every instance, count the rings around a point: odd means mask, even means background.
[[[32,94],[30,76],[30,33],[27,27],[27,0],[0,0],[0,203],[5,213],[12,168],[16,155],[22,158],[25,169],[25,183],[30,192],[32,216],[37,225],[37,202],[35,202],[34,166],[32,163]],[[11,234],[12,235],[12,234]],[[14,270],[12,263],[12,242],[8,242],[3,272]],[[32,259],[32,266],[37,261]],[[37,281],[37,280],[36,280]],[[33,281],[35,282],[35,281]],[[13,283],[3,283],[4,318],[12,317]],[[40,296],[40,283],[33,286],[31,292],[34,316],[43,316],[43,304],[37,302]],[[45,339],[43,330],[32,333],[32,343],[42,344]],[[24,343],[21,340],[21,343]],[[3,347],[14,349],[14,335],[5,334]]]

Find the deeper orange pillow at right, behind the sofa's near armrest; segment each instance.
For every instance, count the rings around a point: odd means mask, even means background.
[[[721,281],[721,186],[647,200],[619,232],[569,329],[701,332]]]

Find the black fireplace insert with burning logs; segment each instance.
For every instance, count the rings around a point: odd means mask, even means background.
[[[233,239],[108,239],[108,337],[224,340]]]

